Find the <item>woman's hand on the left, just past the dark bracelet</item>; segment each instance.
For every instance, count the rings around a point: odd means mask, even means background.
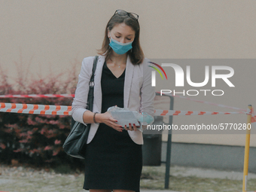
[[[103,114],[96,114],[95,120],[98,123],[105,123],[106,125],[111,126],[114,130],[119,132],[123,131],[122,126],[117,123],[117,120],[115,120],[108,111]]]

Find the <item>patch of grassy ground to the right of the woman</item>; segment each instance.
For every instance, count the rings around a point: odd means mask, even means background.
[[[142,171],[141,187],[151,190],[164,190],[164,166],[144,166]],[[176,169],[171,168],[173,174]],[[227,178],[199,178],[197,176],[182,176],[175,174],[169,177],[169,190],[182,192],[241,192],[242,180]],[[248,180],[248,191],[256,190],[256,179]]]

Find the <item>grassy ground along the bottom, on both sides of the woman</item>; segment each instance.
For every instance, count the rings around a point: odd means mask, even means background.
[[[142,170],[141,188],[151,190],[164,190],[164,166],[144,166]],[[196,176],[179,175],[177,169],[171,168],[171,173],[178,173],[169,177],[169,190],[182,192],[240,192],[242,180],[230,180],[227,178],[199,178]],[[48,192],[48,191],[85,191],[82,190],[83,174],[57,174],[51,170],[47,173],[35,175],[16,174],[12,176],[0,175],[0,178],[9,180],[8,183],[0,184],[0,190],[10,192]],[[256,179],[248,180],[248,191],[256,189]]]

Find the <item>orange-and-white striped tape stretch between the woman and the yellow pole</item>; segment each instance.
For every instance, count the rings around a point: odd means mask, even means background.
[[[245,114],[243,111],[237,112],[221,112],[221,111],[174,111],[174,110],[154,110],[154,116],[165,115],[205,115],[205,114]]]

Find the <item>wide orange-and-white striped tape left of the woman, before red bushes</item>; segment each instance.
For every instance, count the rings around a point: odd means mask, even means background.
[[[0,112],[23,113],[23,114],[71,115],[71,110],[72,110],[72,106],[33,105],[33,104],[0,102]]]

